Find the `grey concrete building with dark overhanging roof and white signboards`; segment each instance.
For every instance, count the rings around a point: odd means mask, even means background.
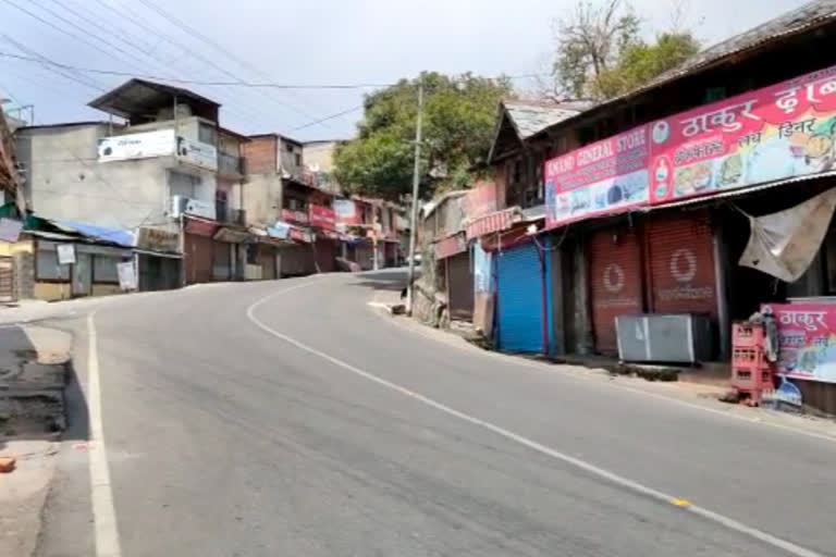
[[[56,221],[135,232],[149,242],[137,246],[148,251],[139,274],[163,276],[161,284],[170,284],[171,275],[180,276],[179,283],[243,277],[250,238],[242,213],[247,138],[220,126],[220,104],[144,79],[131,79],[89,104],[124,123],[17,129],[32,210]],[[139,234],[142,228],[180,235],[183,264],[152,257],[161,248],[152,239],[170,244],[170,236]]]

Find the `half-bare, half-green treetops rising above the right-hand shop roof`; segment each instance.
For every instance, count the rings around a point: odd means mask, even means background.
[[[555,30],[550,92],[556,97],[612,98],[700,50],[693,34],[679,23],[654,40],[646,40],[641,18],[624,0],[603,0],[601,4],[580,0],[568,18],[556,22]]]

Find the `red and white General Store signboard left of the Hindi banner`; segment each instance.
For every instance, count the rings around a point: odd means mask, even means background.
[[[648,128],[640,126],[545,163],[545,226],[648,202]]]

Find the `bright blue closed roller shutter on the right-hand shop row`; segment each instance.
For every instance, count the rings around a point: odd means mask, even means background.
[[[532,243],[496,258],[499,347],[514,352],[543,351],[543,284]]]

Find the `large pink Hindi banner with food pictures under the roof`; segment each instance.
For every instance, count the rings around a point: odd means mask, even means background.
[[[650,201],[833,169],[836,66],[655,122]]]

